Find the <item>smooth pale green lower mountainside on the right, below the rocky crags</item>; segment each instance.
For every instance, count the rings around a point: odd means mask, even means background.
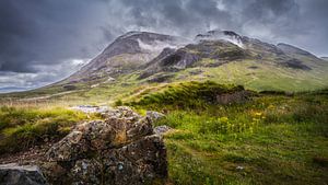
[[[257,67],[251,69],[249,67]],[[256,91],[311,91],[327,88],[328,65],[312,71],[292,70],[278,67],[270,61],[256,62],[253,60],[234,61],[216,68],[199,68],[203,71],[192,79],[210,79],[218,83],[244,85]],[[190,70],[183,71],[180,77],[188,76]],[[190,79],[188,77],[188,79]]]

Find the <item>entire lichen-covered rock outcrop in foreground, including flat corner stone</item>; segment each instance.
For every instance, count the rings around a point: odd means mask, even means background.
[[[78,125],[33,163],[0,165],[0,184],[152,184],[167,176],[166,149],[152,123],[128,107],[108,109],[105,120]],[[160,130],[160,131],[159,131]],[[166,130],[166,129],[164,129]]]

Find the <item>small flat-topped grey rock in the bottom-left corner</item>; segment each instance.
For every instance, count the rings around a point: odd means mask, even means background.
[[[0,185],[46,185],[43,173],[36,165],[15,163],[0,165]]]

